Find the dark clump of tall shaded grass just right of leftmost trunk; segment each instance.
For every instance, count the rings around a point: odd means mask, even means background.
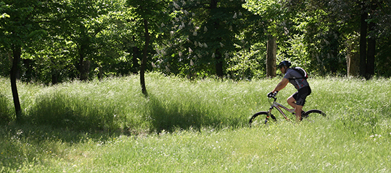
[[[37,98],[23,122],[89,133],[115,131],[119,128],[116,113],[115,105],[56,93]]]

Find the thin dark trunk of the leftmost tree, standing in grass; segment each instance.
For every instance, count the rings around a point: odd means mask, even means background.
[[[18,73],[18,66],[19,62],[21,60],[21,46],[14,45],[12,48],[12,53],[14,59],[12,60],[12,68],[10,71],[10,79],[11,79],[11,90],[12,90],[12,97],[14,98],[14,107],[15,107],[15,113],[16,113],[16,121],[21,120],[21,103],[19,101],[19,94],[18,94],[18,88],[16,87],[16,75]]]

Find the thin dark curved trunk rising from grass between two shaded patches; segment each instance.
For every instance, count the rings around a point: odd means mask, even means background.
[[[150,44],[150,33],[148,31],[148,21],[144,18],[144,30],[145,30],[145,44],[143,49],[143,60],[141,61],[140,67],[140,83],[141,83],[141,92],[143,92],[144,96],[148,96],[147,88],[145,87],[145,64],[147,64],[147,49]]]

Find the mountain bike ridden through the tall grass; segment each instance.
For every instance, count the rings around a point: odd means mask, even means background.
[[[248,122],[250,127],[256,127],[256,126],[260,126],[263,124],[268,124],[269,118],[272,118],[272,120],[274,122],[276,122],[277,119],[272,114],[272,110],[274,108],[276,108],[280,112],[280,114],[283,115],[285,120],[287,120],[287,121],[290,121],[290,119],[287,117],[287,115],[283,112],[282,109],[285,109],[286,111],[289,111],[290,113],[292,113],[294,115],[294,109],[289,109],[289,108],[281,105],[280,103],[277,103],[276,94],[269,98],[269,103],[270,103],[269,111],[259,111],[250,118],[250,121]],[[302,115],[301,115],[302,120],[309,120],[310,122],[313,122],[316,118],[320,118],[320,117],[326,118],[326,114],[324,114],[323,111],[318,110],[318,109],[311,109],[309,111],[302,111]],[[265,119],[263,119],[263,118],[265,118]],[[294,118],[296,118],[296,115],[294,116]]]

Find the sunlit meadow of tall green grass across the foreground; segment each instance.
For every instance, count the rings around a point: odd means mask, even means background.
[[[287,122],[274,111],[278,123],[249,128],[278,82],[152,73],[149,98],[138,76],[18,83],[23,124],[0,123],[0,172],[391,172],[390,79],[309,79],[305,109],[328,119]],[[0,89],[5,120],[8,79]]]

